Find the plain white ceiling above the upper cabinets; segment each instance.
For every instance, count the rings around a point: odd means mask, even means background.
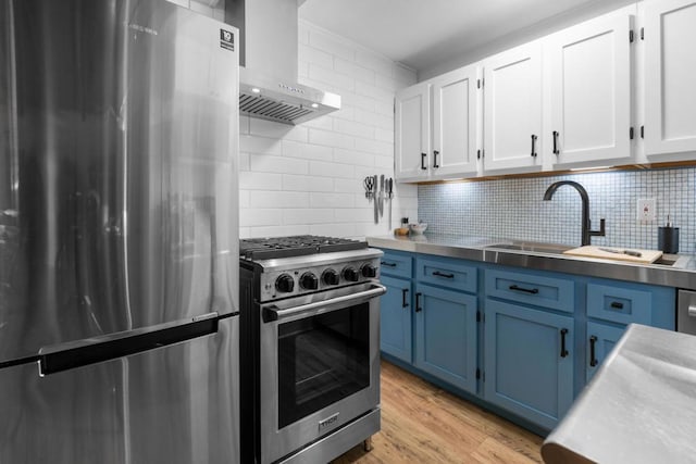
[[[631,0],[304,0],[299,16],[419,72]]]

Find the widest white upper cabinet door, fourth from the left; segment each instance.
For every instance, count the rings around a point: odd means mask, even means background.
[[[607,15],[544,41],[552,164],[631,158],[632,22],[627,13]]]

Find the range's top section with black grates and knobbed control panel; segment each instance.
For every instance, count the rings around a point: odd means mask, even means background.
[[[382,252],[364,241],[294,236],[240,240],[239,254],[265,302],[376,280]]]

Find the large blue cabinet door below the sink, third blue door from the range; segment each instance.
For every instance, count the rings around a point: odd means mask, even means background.
[[[571,316],[486,300],[484,394],[551,429],[573,402]]]

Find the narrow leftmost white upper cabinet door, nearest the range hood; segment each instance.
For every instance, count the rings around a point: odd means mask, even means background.
[[[396,179],[428,176],[431,86],[419,84],[397,92],[395,104]]]

